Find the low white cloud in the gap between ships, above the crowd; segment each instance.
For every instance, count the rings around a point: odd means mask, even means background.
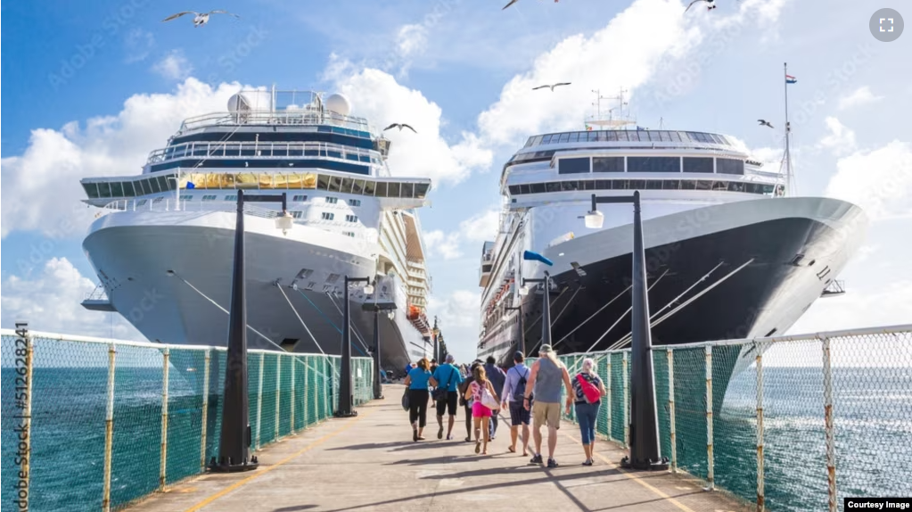
[[[461,289],[443,297],[431,296],[428,301],[428,310],[440,319],[447,349],[458,362],[474,360],[477,354],[481,303],[481,293]]]

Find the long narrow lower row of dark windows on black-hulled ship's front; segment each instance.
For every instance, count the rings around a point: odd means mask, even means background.
[[[510,194],[577,192],[581,190],[712,190],[772,194],[767,183],[720,182],[718,180],[585,180],[510,185]]]

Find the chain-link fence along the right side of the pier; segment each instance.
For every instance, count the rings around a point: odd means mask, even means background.
[[[627,447],[630,350],[560,359],[573,377],[587,357],[607,391],[597,432]],[[653,368],[673,471],[758,510],[912,496],[912,325],[653,347]]]

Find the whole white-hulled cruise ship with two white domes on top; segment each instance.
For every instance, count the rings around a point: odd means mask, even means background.
[[[348,276],[375,283],[349,290],[353,355],[372,349],[375,315],[384,369],[429,353],[417,210],[431,183],[393,177],[390,141],[350,110],[339,94],[242,90],[226,111],[184,120],[139,175],[83,179],[99,279],[83,305],[149,340],[224,346],[237,193],[285,193],[285,231],[281,204],[244,206],[248,346],[340,353]]]

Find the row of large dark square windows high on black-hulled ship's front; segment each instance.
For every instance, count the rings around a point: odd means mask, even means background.
[[[680,156],[596,156],[561,158],[557,172],[703,172],[743,174],[744,161],[735,158]]]

